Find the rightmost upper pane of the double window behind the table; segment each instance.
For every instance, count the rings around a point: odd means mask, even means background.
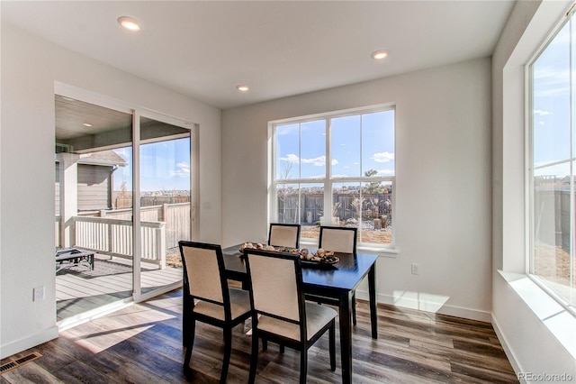
[[[394,166],[394,111],[363,114],[363,176],[394,176]]]

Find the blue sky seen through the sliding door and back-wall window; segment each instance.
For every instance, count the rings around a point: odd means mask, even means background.
[[[289,178],[324,178],[326,124],[317,120],[278,127],[278,175]],[[394,175],[394,111],[332,119],[333,177],[364,176],[370,169],[379,176]],[[114,172],[114,190],[126,181],[132,190],[131,147],[114,150],[128,166]],[[141,191],[190,189],[190,140],[178,139],[140,146]]]

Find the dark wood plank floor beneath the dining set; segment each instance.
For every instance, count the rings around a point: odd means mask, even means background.
[[[378,340],[370,333],[369,309],[357,304],[353,331],[355,383],[511,383],[518,382],[487,323],[428,312],[378,306]],[[338,327],[337,327],[338,329]],[[249,323],[234,330],[229,383],[246,383],[250,360]],[[338,340],[337,331],[337,340]],[[221,330],[196,326],[193,376],[182,369],[182,290],[94,319],[60,333],[58,339],[4,359],[31,352],[42,357],[4,372],[0,383],[216,383],[220,379]],[[329,370],[328,335],[309,352],[308,382],[341,382]],[[257,383],[298,381],[299,354],[277,345],[260,348]]]

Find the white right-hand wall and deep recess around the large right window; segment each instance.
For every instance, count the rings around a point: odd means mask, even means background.
[[[492,324],[518,374],[575,379],[576,320],[525,274],[524,66],[570,3],[518,2],[492,59]]]

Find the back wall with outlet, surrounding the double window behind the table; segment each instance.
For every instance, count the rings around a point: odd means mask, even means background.
[[[223,243],[266,239],[268,121],[386,103],[400,254],[378,261],[378,300],[490,321],[491,59],[224,110]]]

